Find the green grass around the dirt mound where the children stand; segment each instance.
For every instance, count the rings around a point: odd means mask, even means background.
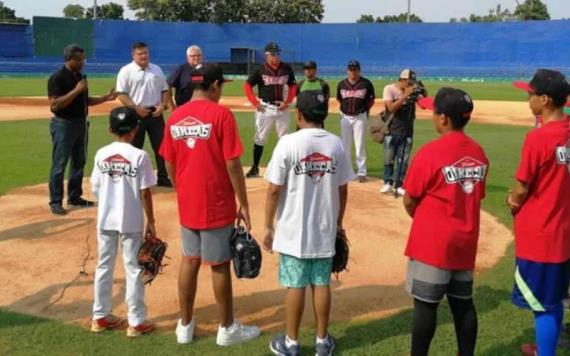
[[[251,160],[253,117],[250,113],[236,115],[246,153],[243,162]],[[327,120],[327,128],[339,133],[338,116]],[[110,141],[104,118],[92,119],[90,130],[90,159],[86,172],[91,170],[92,156],[97,147]],[[510,215],[503,198],[512,183],[524,134],[528,129],[510,126],[469,125],[467,132],[485,148],[491,170],[487,184],[487,198],[483,208],[510,226]],[[26,138],[28,137],[28,138]],[[429,121],[418,121],[414,149],[436,137]],[[45,182],[49,169],[48,122],[34,120],[0,123],[3,150],[0,164],[0,194],[9,189]],[[269,142],[264,161],[275,144],[275,135]],[[382,173],[382,149],[368,141],[369,170],[371,175]],[[47,203],[47,197],[46,197]],[[350,209],[350,207],[349,207]],[[380,217],[381,218],[381,217]],[[387,222],[388,223],[388,222]],[[373,235],[371,235],[373,237]],[[378,251],[382,258],[382,251]],[[479,338],[477,355],[519,355],[518,346],[533,340],[533,321],[530,312],[521,311],[510,304],[513,284],[512,247],[491,270],[476,280],[475,303],[479,313]],[[402,256],[402,258],[404,258]],[[387,266],[387,268],[389,268]],[[385,271],[377,271],[384,273]],[[350,278],[350,273],[344,278]],[[382,298],[382,295],[378,295]],[[281,301],[275,301],[280,303]],[[334,300],[333,311],[334,313]],[[331,332],[337,337],[340,355],[407,355],[409,353],[411,310],[405,310],[387,318],[366,321],[336,323]],[[310,354],[312,329],[304,329],[301,342],[303,352]],[[39,319],[17,313],[0,311],[1,355],[264,355],[272,335],[263,335],[251,343],[220,349],[213,337],[198,338],[190,346],[178,346],[173,331],[160,332],[137,340],[127,340],[122,332],[92,335],[86,330],[60,321]],[[455,355],[455,336],[452,317],[445,303],[440,307],[438,329],[431,347],[431,355]],[[570,355],[570,352],[560,352]]]

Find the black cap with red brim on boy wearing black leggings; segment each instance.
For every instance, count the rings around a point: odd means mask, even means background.
[[[441,88],[435,97],[426,97],[418,100],[422,109],[432,110],[449,117],[469,119],[473,112],[473,99],[461,89]]]

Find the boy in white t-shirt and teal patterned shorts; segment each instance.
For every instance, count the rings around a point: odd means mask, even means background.
[[[331,305],[330,275],[337,229],[354,179],[339,137],[324,130],[328,103],[322,93],[305,91],[297,98],[296,133],[283,136],[267,167],[264,248],[279,252],[279,281],[287,287],[287,333],[274,338],[271,351],[298,355],[299,325],[305,287],[313,291],[317,321],[316,354],[331,355],[328,334]],[[274,220],[277,226],[274,229]]]

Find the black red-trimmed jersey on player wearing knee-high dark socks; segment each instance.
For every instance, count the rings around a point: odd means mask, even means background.
[[[288,86],[296,84],[293,69],[283,62],[277,68],[264,64],[247,78],[247,82],[251,86],[257,85],[257,95],[269,104],[286,101]]]

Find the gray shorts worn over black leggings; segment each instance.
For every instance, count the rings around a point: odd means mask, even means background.
[[[473,297],[473,271],[450,271],[420,261],[408,261],[406,291],[414,298],[439,303],[448,296],[459,299]]]

